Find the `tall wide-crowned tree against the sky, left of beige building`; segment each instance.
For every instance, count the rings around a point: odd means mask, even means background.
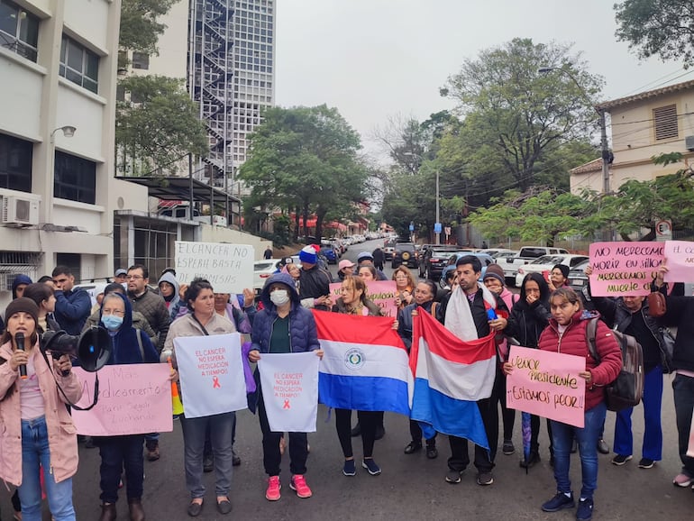
[[[591,100],[601,85],[570,46],[516,38],[482,50],[441,91],[465,116],[457,141],[473,168],[464,169],[486,177],[493,168],[502,183],[503,171],[525,192],[546,154],[590,135],[597,122]]]

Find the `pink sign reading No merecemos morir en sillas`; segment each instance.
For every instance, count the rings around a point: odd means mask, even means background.
[[[648,295],[664,248],[665,242],[593,242],[590,293],[595,297]]]

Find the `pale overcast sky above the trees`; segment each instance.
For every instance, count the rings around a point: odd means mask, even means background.
[[[573,43],[606,80],[604,99],[694,79],[679,62],[642,62],[615,38],[612,0],[276,0],[276,102],[327,104],[370,136],[389,116],[452,108],[446,78],[513,38]]]

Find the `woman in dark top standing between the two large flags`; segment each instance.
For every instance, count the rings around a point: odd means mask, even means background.
[[[412,347],[412,312],[417,310],[423,313],[429,313],[436,320],[440,320],[437,316],[438,307],[434,302],[436,296],[436,285],[432,280],[423,280],[419,282],[415,288],[415,302],[409,306],[405,306],[397,313],[397,334],[402,338],[403,343],[409,352]],[[418,422],[410,420],[410,435],[412,441],[407,443],[405,447],[406,454],[414,454],[422,450],[422,429]],[[436,449],[436,434],[426,440],[426,457],[434,460],[438,457],[439,451]]]

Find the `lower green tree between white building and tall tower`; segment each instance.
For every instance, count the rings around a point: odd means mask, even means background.
[[[115,142],[133,174],[176,172],[188,153],[205,155],[209,142],[182,81],[162,76],[131,76],[120,86],[130,101],[116,103]]]

